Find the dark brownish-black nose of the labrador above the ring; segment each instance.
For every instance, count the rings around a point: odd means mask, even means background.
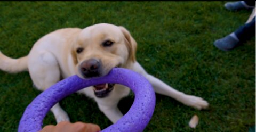
[[[81,63],[80,71],[86,78],[98,77],[100,76],[100,67],[100,61],[96,59],[89,59]]]

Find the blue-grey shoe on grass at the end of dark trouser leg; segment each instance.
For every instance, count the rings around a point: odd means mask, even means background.
[[[230,50],[233,50],[233,48],[238,46],[239,40],[228,35],[224,38],[215,40],[213,44],[222,51],[230,51]]]

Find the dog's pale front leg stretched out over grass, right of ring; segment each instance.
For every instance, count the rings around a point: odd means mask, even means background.
[[[147,74],[145,76],[151,85],[154,87],[156,93],[163,94],[166,96],[170,96],[179,102],[186,104],[188,106],[192,106],[198,110],[205,109],[208,106],[208,103],[203,100],[201,97],[187,95],[178,90],[166,85],[163,81],[159,80],[158,78]]]

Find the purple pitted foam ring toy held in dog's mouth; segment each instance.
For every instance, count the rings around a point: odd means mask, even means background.
[[[115,124],[102,131],[143,131],[155,109],[155,92],[145,77],[123,68],[114,68],[104,77],[81,79],[75,75],[59,81],[38,95],[27,106],[18,131],[41,130],[43,119],[54,104],[77,90],[105,83],[127,86],[131,88],[135,98],[130,110]]]

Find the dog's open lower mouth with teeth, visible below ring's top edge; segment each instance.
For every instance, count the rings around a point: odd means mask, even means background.
[[[93,86],[94,94],[97,97],[106,97],[114,89],[115,84],[100,84]]]

